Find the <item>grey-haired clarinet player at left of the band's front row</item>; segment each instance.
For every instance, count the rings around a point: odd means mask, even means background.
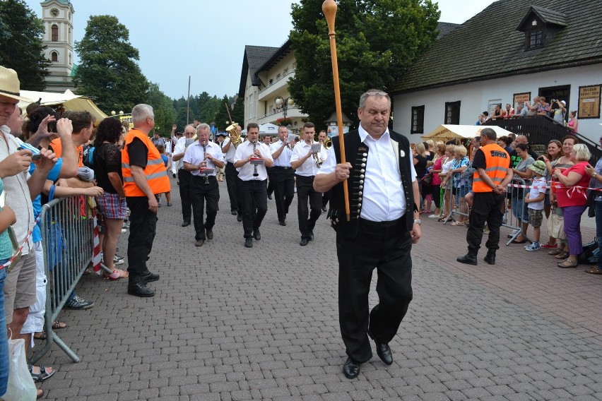
[[[195,246],[203,246],[205,239],[213,239],[213,226],[219,210],[220,187],[216,175],[218,169],[224,167],[223,153],[220,145],[209,140],[209,124],[201,124],[196,128],[199,138],[190,145],[184,155],[184,169],[192,174],[190,180],[190,199],[194,215]],[[201,169],[213,169],[213,172],[202,172]],[[203,223],[204,205],[207,201],[207,220]]]

